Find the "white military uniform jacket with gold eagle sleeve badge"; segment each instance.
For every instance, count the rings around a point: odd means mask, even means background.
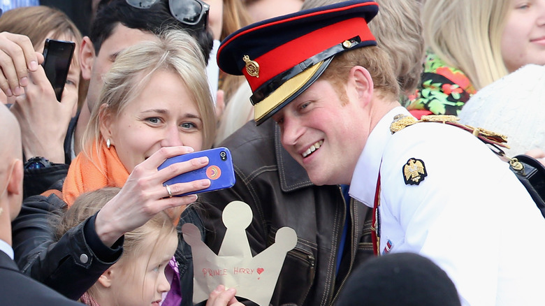
[[[543,305],[545,219],[508,163],[455,126],[425,122],[392,135],[400,113],[409,115],[395,108],[373,129],[350,187],[372,207],[380,171],[379,251],[431,258],[463,305]],[[405,181],[409,159],[425,169],[419,184]]]

